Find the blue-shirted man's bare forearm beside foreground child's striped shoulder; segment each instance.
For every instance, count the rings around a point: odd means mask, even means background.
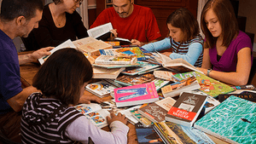
[[[32,86],[27,87],[26,89],[23,89],[18,95],[10,98],[7,102],[9,103],[9,106],[15,110],[15,112],[20,112],[26,101],[26,98],[34,92],[39,92],[39,90]]]

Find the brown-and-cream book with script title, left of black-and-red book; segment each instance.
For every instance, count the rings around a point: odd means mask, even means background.
[[[163,100],[149,103],[146,107],[139,108],[138,112],[153,123],[163,122],[166,121],[166,114],[175,102],[171,97],[166,97]]]

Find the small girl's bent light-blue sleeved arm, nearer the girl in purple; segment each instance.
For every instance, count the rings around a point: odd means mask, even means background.
[[[188,61],[191,65],[195,65],[195,61],[199,58],[202,53],[201,43],[192,43],[189,45],[189,51],[186,55],[180,55],[177,53],[172,53],[170,57],[172,59],[183,58],[183,60]]]

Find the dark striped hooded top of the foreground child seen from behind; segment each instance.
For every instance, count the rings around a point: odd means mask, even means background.
[[[78,143],[65,135],[68,124],[84,116],[74,107],[65,107],[61,101],[41,93],[30,95],[23,106],[21,141],[23,143]]]

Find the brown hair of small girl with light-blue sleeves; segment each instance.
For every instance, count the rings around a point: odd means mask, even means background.
[[[184,35],[183,42],[199,34],[198,22],[188,9],[176,9],[168,16],[166,23],[182,30]]]

